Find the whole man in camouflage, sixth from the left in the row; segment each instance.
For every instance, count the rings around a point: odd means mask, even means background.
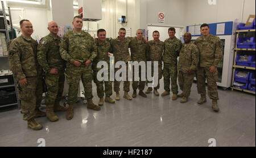
[[[143,61],[146,63],[146,53],[147,53],[147,42],[143,39],[143,31],[142,29],[138,29],[136,32],[137,37],[133,37],[130,42],[131,48],[131,61],[137,61],[138,63]],[[146,84],[146,80],[141,80],[141,74],[144,73],[141,70],[141,66],[139,66],[139,72],[134,72],[133,66],[133,95],[135,98],[137,96],[137,89],[139,88],[139,95],[142,97],[147,97],[147,95],[143,92]],[[139,82],[134,80],[134,74],[137,73],[139,76]]]

